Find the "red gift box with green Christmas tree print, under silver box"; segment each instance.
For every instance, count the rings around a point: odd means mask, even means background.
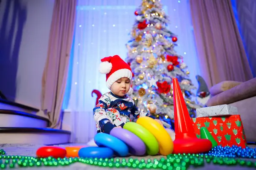
[[[200,138],[200,128],[206,127],[218,145],[247,147],[240,115],[191,118],[195,134]]]

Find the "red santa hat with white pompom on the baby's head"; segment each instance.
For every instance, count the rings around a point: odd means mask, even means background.
[[[122,77],[127,77],[130,80],[132,78],[131,67],[118,55],[101,59],[99,72],[106,74],[106,85],[109,89],[116,80]]]

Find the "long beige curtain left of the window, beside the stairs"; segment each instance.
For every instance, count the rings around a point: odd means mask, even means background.
[[[49,37],[47,62],[42,77],[41,109],[50,127],[61,127],[61,107],[76,17],[76,0],[55,0]]]

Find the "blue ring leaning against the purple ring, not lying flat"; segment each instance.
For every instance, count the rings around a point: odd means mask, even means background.
[[[99,147],[109,147],[113,151],[116,152],[118,156],[127,156],[128,155],[128,147],[122,142],[120,139],[117,139],[114,136],[111,136],[107,133],[97,133],[94,136],[94,142]]]

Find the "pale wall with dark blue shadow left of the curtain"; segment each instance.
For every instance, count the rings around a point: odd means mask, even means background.
[[[15,102],[40,108],[54,0],[2,0],[0,91]]]

